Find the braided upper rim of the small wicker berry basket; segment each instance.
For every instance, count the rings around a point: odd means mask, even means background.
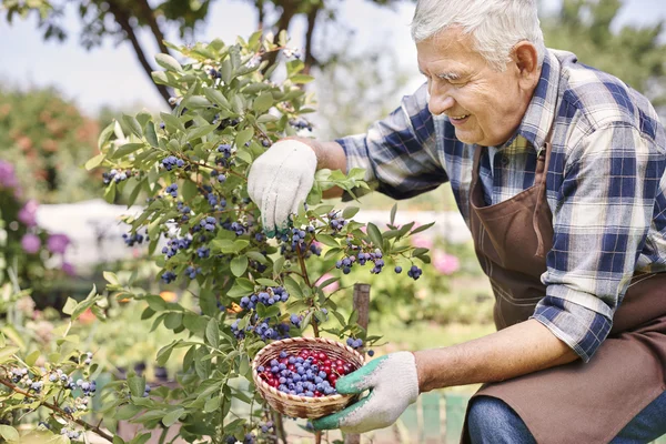
[[[260,392],[266,391],[266,392],[272,393],[273,395],[281,397],[283,401],[297,402],[297,403],[302,403],[302,404],[327,404],[327,403],[337,402],[343,398],[349,398],[349,397],[355,396],[355,395],[342,395],[339,393],[336,393],[334,395],[322,396],[322,397],[296,396],[296,395],[292,395],[290,393],[281,392],[278,389],[270,386],[266,382],[264,382],[261,377],[259,377],[259,372],[258,372],[256,367],[259,366],[259,362],[261,361],[261,357],[263,355],[268,354],[269,352],[271,352],[271,350],[273,350],[273,349],[278,349],[282,345],[292,344],[292,343],[296,343],[296,344],[326,343],[329,345],[337,346],[342,350],[345,350],[349,353],[352,353],[353,355],[355,355],[355,357],[359,359],[359,361],[361,363],[363,363],[363,364],[365,363],[365,357],[361,353],[359,353],[357,351],[355,351],[354,349],[352,349],[349,345],[345,345],[337,341],[330,340],[327,337],[287,337],[284,340],[271,342],[265,347],[261,349],[259,351],[259,353],[256,353],[256,355],[252,360],[252,379],[254,380],[255,384],[261,386]]]

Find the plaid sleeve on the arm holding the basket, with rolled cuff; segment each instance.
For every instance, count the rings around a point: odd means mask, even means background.
[[[568,155],[542,275],[546,296],[533,319],[584,362],[610,331],[645,244],[663,173],[664,153],[622,123],[583,138]]]

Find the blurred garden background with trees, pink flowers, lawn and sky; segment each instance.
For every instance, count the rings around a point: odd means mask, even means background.
[[[547,47],[571,50],[582,62],[618,75],[666,117],[664,1],[539,4]],[[286,29],[290,48],[301,52],[303,73],[314,78],[305,85],[316,102],[307,114],[309,134],[331,140],[364,132],[423,81],[408,31],[413,10],[414,2],[395,0],[2,0],[0,345],[11,354],[32,356],[31,365],[47,365],[70,322],[63,313],[68,300],[84,301],[94,285],[101,297],[79,313],[70,330],[77,346],[94,354],[98,384],[128,374],[143,375],[149,384],[173,382],[182,371],[184,350],[160,361],[158,352],[184,333],[143,320],[147,302],[115,297],[117,292],[105,290],[110,281],[104,273],[160,294],[167,303],[195,302],[186,283],[160,282],[161,268],[150,260],[148,242],[132,239],[130,226],[121,221],[123,214],[139,214],[145,199],[107,192],[104,170],[85,168],[100,153],[102,129],[122,114],[158,117],[171,111],[172,92],[151,79],[160,69],[155,54],[178,58],[164,41],[233,43],[262,28],[275,36]],[[370,194],[360,202],[332,203],[339,209],[360,206],[355,220],[384,230],[395,202]],[[355,268],[350,274],[339,273],[341,279],[327,289],[343,289],[349,297],[342,311],[351,312],[353,284],[371,284],[369,334],[382,336],[372,346],[375,356],[445,346],[492,332],[490,285],[448,186],[398,202],[395,221],[435,222],[410,238],[412,246],[430,250],[421,279]],[[0,350],[0,364],[9,355]],[[446,392],[464,396],[474,389]],[[101,408],[101,400],[93,396],[93,403]],[[12,432],[3,425],[21,430],[21,424],[43,420],[26,415],[18,421],[2,408],[0,435],[7,440]],[[90,422],[104,416],[94,408],[87,413]],[[441,397],[422,398],[396,427],[364,440],[443,442],[445,426],[457,424],[452,412]],[[115,422],[138,411],[125,413]],[[312,442],[302,432],[290,442]],[[448,430],[446,436],[455,432]],[[151,433],[150,438],[165,442],[167,436],[172,440],[174,434]]]

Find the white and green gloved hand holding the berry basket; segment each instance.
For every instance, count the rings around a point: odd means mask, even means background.
[[[357,371],[337,380],[337,393],[367,396],[345,410],[314,420],[314,430],[340,428],[345,433],[364,433],[393,424],[418,397],[418,374],[414,355],[391,353],[377,357]]]

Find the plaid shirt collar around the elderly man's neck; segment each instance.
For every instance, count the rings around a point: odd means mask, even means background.
[[[523,121],[516,133],[500,149],[511,145],[518,135],[525,138],[536,150],[544,145],[551,127],[554,124],[559,89],[559,60],[551,50],[546,49],[541,78],[525,115],[523,115]]]

